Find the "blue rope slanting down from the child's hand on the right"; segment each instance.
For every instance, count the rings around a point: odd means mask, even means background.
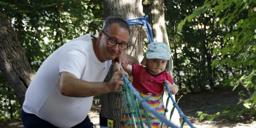
[[[178,110],[178,112],[180,113],[180,116],[182,116],[183,120],[185,120],[191,128],[195,128],[195,127],[193,126],[193,124],[188,120],[188,117],[185,116],[184,113],[180,110],[180,107],[178,106],[178,104],[174,101],[174,99],[173,99],[173,97],[172,97],[172,93],[170,92],[170,90],[169,90],[168,85],[166,84],[166,82],[164,82],[164,86],[165,86],[166,89],[167,89],[168,96],[169,96],[169,97],[171,98],[171,100],[172,100],[173,106]]]

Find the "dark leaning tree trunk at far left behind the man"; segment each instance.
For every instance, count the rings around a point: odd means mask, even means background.
[[[22,105],[26,89],[34,73],[26,59],[25,50],[22,48],[16,32],[2,13],[0,13],[0,64],[8,83]]]

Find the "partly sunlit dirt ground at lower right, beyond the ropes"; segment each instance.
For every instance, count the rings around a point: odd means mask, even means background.
[[[219,90],[215,92],[207,92],[201,94],[185,94],[178,101],[178,106],[188,117],[190,122],[197,128],[256,128],[256,117],[252,117],[254,121],[250,121],[249,116],[240,116],[236,120],[230,120],[228,117],[220,117],[212,122],[207,120],[199,121],[196,114],[197,111],[202,111],[207,114],[214,114],[221,112],[218,106],[226,106],[230,104],[231,107],[237,105],[240,96],[240,88],[232,91],[232,89]],[[243,90],[246,92],[246,90]],[[188,125],[185,125],[188,128]]]

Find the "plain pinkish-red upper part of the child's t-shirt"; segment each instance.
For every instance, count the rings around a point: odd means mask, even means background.
[[[168,80],[173,84],[172,76],[166,71],[156,76],[152,76],[142,65],[134,64],[132,65],[132,67],[132,85],[138,90],[141,90],[143,92],[160,94],[162,93],[162,83],[164,82],[164,80]]]

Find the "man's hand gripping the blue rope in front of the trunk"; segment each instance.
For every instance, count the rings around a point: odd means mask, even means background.
[[[124,79],[122,78],[121,74],[124,74],[128,77],[127,72],[124,70],[119,70],[117,72],[114,72],[114,75],[112,76],[111,80],[108,82],[108,87],[110,89],[110,92],[114,92],[117,90],[118,86],[122,86],[124,84]]]

